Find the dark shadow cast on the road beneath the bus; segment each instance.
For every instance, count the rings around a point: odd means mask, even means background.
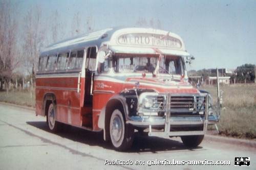
[[[27,122],[28,125],[52,133],[49,130],[46,122]],[[104,149],[113,150],[111,142],[106,142],[103,139],[103,132],[91,132],[77,127],[67,128],[59,133],[55,133],[62,138],[67,138],[75,142],[89,144],[92,146],[99,146]],[[182,151],[196,151],[202,150],[202,147],[189,149],[184,146],[181,141],[175,140],[175,138],[160,138],[147,135],[139,135],[135,133],[134,142],[130,150],[127,153],[160,153],[160,152],[182,152]]]

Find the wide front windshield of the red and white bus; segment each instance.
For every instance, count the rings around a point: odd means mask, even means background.
[[[114,71],[152,72],[153,74],[184,75],[184,61],[180,56],[169,55],[127,55],[113,57]]]

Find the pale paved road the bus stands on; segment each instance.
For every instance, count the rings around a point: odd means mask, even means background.
[[[256,169],[256,148],[232,142],[206,138],[198,148],[187,149],[180,138],[136,136],[133,148],[122,153],[104,142],[102,133],[71,128],[53,134],[45,120],[34,110],[0,103],[0,169]],[[250,166],[234,166],[235,157],[250,157]],[[175,163],[173,159],[178,164],[230,161],[230,165],[168,165]],[[104,165],[106,160],[119,165]],[[132,165],[120,165],[121,161]],[[153,165],[158,161],[165,165]]]

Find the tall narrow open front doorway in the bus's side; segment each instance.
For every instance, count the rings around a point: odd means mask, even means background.
[[[96,67],[96,46],[88,47],[86,52],[86,75],[82,111],[82,126],[92,128],[93,81]]]

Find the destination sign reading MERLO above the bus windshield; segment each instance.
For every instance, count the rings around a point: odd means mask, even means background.
[[[181,48],[181,41],[175,37],[156,34],[123,34],[117,38],[121,45],[143,45]]]

